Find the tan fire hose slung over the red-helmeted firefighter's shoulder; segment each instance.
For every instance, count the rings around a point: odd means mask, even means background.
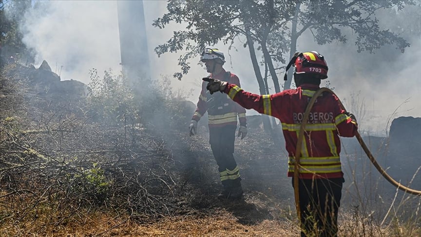
[[[301,126],[300,126],[300,131],[298,133],[298,140],[297,140],[297,147],[295,150],[295,163],[294,163],[294,196],[295,196],[295,207],[297,209],[297,216],[298,216],[298,220],[301,223],[300,217],[301,217],[301,210],[300,210],[300,199],[299,199],[299,191],[298,191],[298,178],[299,178],[299,172],[300,172],[300,156],[301,156],[301,146],[303,143],[303,136],[304,136],[304,131],[305,131],[305,127],[307,124],[307,120],[308,120],[308,115],[310,114],[311,108],[313,107],[314,102],[316,101],[317,97],[319,95],[321,95],[323,92],[329,92],[332,93],[333,95],[336,96],[336,94],[331,91],[329,88],[320,88],[319,90],[317,90],[313,97],[310,99],[310,101],[308,102],[308,105],[306,107],[306,111],[304,113],[304,118],[303,121],[301,122]],[[341,107],[345,110],[344,105],[342,104],[342,102],[338,99]],[[346,110],[345,110],[346,111]],[[360,143],[361,147],[363,148],[365,154],[367,155],[367,157],[370,159],[371,163],[373,163],[373,165],[376,167],[376,169],[380,172],[380,174],[387,180],[389,181],[391,184],[393,184],[395,187],[397,187],[398,189],[409,193],[409,194],[413,194],[413,195],[420,195],[421,196],[421,191],[420,190],[415,190],[415,189],[411,189],[408,188],[406,186],[403,186],[402,184],[400,184],[399,182],[397,182],[395,179],[393,179],[392,177],[390,177],[386,171],[379,165],[379,163],[377,163],[376,159],[373,157],[373,155],[371,154],[370,150],[368,150],[367,146],[364,143],[363,138],[361,138],[361,135],[358,131],[355,131],[355,137],[357,138],[358,142]]]

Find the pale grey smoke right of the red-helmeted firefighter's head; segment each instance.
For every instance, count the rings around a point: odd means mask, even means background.
[[[405,16],[414,13],[419,6],[407,6],[403,12],[394,15],[392,10],[379,12],[377,18],[382,28],[399,32],[411,45],[405,53],[394,45],[384,45],[376,50],[357,53],[354,44],[356,36],[348,32],[348,43],[317,45],[311,34],[299,39],[299,51],[316,50],[325,56],[329,66],[328,80],[335,93],[351,110],[351,95],[358,95],[364,101],[364,120],[360,129],[370,135],[384,136],[394,118],[400,116],[421,117],[421,90],[418,70],[421,66],[421,40],[419,24],[407,25]],[[392,17],[393,16],[393,17]],[[415,21],[421,20],[414,16]],[[418,21],[419,22],[419,21]],[[350,111],[353,112],[353,111]],[[358,120],[358,116],[357,116]]]

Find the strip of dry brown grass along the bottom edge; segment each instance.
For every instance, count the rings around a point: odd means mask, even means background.
[[[187,214],[164,217],[160,220],[139,224],[128,214],[111,215],[95,211],[81,214],[57,225],[47,224],[58,216],[50,213],[37,219],[25,220],[22,225],[2,225],[2,236],[145,236],[145,237],[293,237],[299,235],[295,222],[265,219],[257,224],[242,224],[231,212],[220,209],[212,215]],[[420,229],[413,227],[379,227],[375,224],[355,222],[354,217],[342,215],[341,237],[419,237]]]

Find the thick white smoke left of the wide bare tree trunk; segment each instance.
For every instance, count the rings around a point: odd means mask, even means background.
[[[24,42],[61,79],[89,82],[89,70],[121,71],[115,1],[36,1],[26,15]]]

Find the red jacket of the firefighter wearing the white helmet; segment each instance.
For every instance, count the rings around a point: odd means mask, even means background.
[[[217,75],[210,74],[210,78],[227,81],[231,84],[240,86],[238,77],[230,72],[222,70]],[[200,92],[197,108],[193,118],[199,121],[200,118],[208,111],[209,127],[221,127],[226,125],[237,125],[237,116],[240,125],[246,126],[246,109],[236,102],[232,101],[227,94],[213,93],[210,95],[206,89],[208,82],[202,82],[202,91]]]

